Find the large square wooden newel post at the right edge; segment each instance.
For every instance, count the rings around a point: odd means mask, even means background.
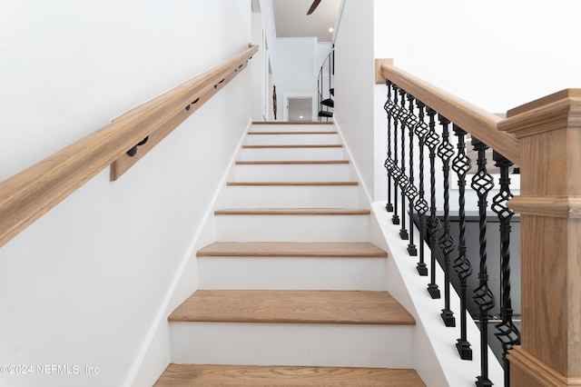
[[[507,356],[520,386],[581,386],[581,89],[507,112],[520,140],[521,345]]]

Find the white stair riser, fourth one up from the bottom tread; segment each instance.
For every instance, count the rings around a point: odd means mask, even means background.
[[[357,202],[357,185],[231,185],[226,188],[229,208],[354,208]]]

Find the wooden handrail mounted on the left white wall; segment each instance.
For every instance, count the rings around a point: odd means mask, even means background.
[[[112,165],[112,180],[131,165],[125,153],[148,137],[138,157],[159,143],[203,102],[238,74],[258,51],[250,45],[212,70],[174,87],[113,120],[111,124],[0,183],[0,246],[34,223],[70,193]],[[194,103],[195,102],[195,103]],[[117,163],[125,163],[121,169]]]

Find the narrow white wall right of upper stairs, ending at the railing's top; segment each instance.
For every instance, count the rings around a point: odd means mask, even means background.
[[[374,192],[373,2],[345,0],[335,35],[335,123],[364,188]]]

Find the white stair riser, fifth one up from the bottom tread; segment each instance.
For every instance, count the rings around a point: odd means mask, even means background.
[[[240,164],[237,182],[347,182],[349,164]]]

